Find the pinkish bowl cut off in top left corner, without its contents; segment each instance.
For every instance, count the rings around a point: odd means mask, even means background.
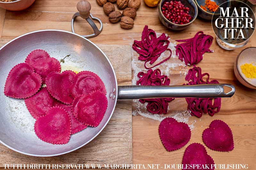
[[[12,2],[0,2],[0,8],[10,11],[21,11],[31,6],[35,0],[16,0]]]

